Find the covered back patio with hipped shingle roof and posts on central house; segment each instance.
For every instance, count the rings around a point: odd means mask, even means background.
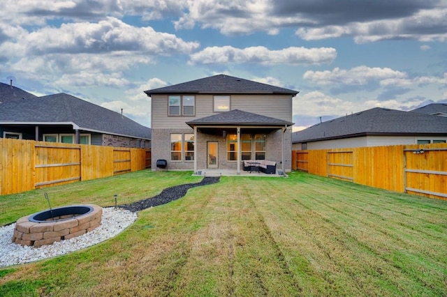
[[[194,130],[193,172],[197,175],[246,175],[244,160],[276,162],[274,174],[283,176],[286,168],[286,131],[293,123],[234,109],[186,122]],[[288,139],[290,142],[290,139]],[[208,176],[208,175],[207,175]]]

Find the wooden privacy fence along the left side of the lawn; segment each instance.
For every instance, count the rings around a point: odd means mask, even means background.
[[[0,195],[149,168],[145,148],[0,138]]]

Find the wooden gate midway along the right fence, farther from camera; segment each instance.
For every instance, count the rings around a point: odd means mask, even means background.
[[[353,151],[328,151],[328,176],[354,181]]]

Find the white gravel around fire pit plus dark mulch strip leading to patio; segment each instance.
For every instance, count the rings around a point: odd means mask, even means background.
[[[138,218],[136,211],[166,204],[183,197],[191,188],[217,182],[219,182],[219,177],[205,177],[200,183],[188,183],[166,188],[155,197],[143,199],[133,204],[121,205],[117,209],[113,207],[103,208],[101,225],[93,231],[65,241],[52,243],[51,245],[43,245],[39,248],[11,243],[15,223],[0,227],[0,268],[57,257],[96,245],[117,236],[117,234],[133,224]]]

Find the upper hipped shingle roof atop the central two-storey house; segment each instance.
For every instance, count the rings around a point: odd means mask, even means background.
[[[202,79],[184,82],[182,84],[173,84],[159,89],[145,91],[147,96],[152,94],[288,94],[295,96],[298,91],[271,86],[270,84],[261,84],[248,79],[232,77],[228,75],[214,75]]]

